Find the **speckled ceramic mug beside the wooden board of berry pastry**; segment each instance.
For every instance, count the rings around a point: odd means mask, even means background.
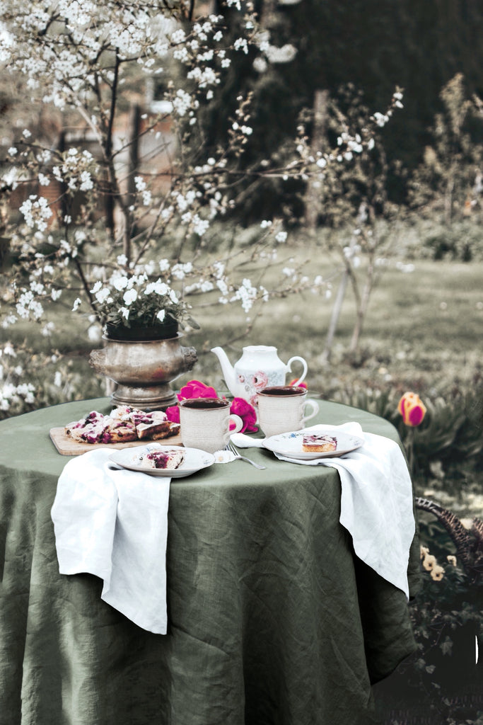
[[[235,428],[230,431],[230,421]],[[180,402],[182,444],[208,453],[222,450],[232,433],[243,428],[238,415],[230,414],[230,402],[223,398],[190,398]]]

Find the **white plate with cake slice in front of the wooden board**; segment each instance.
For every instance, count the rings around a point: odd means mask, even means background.
[[[164,446],[150,443],[123,450],[115,450],[109,456],[112,463],[128,471],[148,473],[148,476],[182,479],[192,476],[214,463],[214,455],[183,446]]]

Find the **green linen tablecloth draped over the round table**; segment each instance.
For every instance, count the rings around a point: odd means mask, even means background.
[[[1,725],[357,725],[371,682],[414,650],[406,597],[353,554],[334,468],[266,450],[173,479],[167,635],[100,599],[90,574],[62,576],[49,429],[108,399],[0,423]],[[321,402],[314,422],[387,421]],[[394,522],[397,525],[397,522]],[[416,539],[409,581],[419,578]]]

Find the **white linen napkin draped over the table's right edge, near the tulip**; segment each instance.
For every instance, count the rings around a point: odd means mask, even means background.
[[[390,438],[364,433],[359,423],[330,428],[360,436],[364,445],[341,458],[298,460],[276,454],[277,458],[337,468],[342,483],[340,523],[350,532],[356,555],[409,599],[408,560],[415,522],[413,487],[403,452]]]

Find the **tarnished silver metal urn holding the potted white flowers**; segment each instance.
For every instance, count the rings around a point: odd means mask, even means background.
[[[169,384],[193,368],[194,347],[182,347],[181,334],[167,340],[128,341],[104,336],[104,348],[93,350],[89,363],[116,384],[113,406],[165,410],[177,398]]]

